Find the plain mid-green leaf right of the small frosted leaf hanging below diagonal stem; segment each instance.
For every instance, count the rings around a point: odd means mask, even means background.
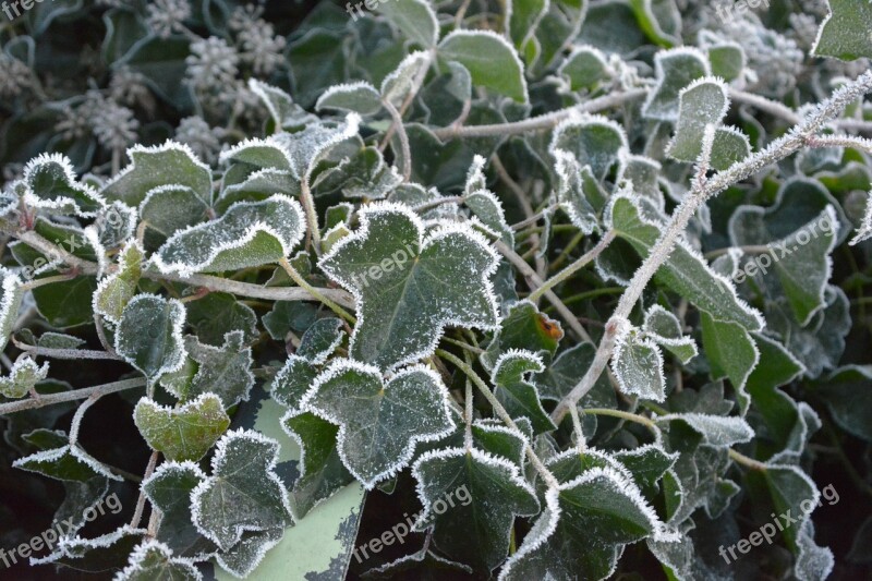
[[[760,351],[751,335],[741,325],[728,320],[715,320],[707,313],[700,313],[700,319],[702,344],[711,365],[712,378],[729,378],[736,389],[739,410],[744,415],[750,404],[744,385],[760,361]]]

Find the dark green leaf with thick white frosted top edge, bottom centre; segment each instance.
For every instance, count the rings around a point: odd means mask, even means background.
[[[426,452],[412,475],[424,505],[414,528],[434,525],[434,545],[474,569],[489,571],[502,562],[514,517],[540,510],[516,464],[474,448]],[[469,534],[471,530],[476,534]]]

